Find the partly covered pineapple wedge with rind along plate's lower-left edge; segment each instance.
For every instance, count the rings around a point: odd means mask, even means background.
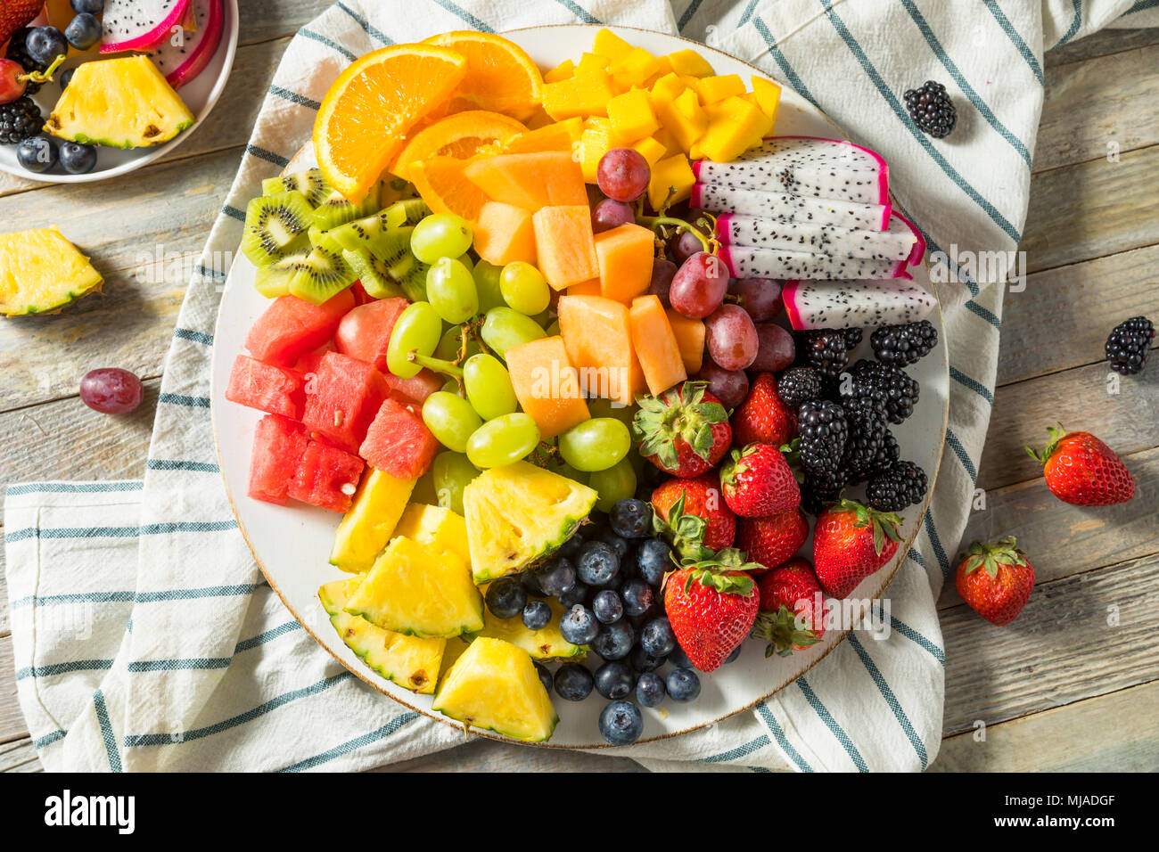
[[[447,640],[406,636],[372,625],[362,616],[351,616],[345,606],[362,582],[363,577],[335,580],[318,590],[334,629],[350,650],[387,680],[420,694],[433,693]]]

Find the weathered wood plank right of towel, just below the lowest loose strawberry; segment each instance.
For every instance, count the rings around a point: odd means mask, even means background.
[[[1159,554],[1035,587],[1006,627],[943,611],[943,731],[972,730],[1153,680]],[[1111,611],[1120,624],[1108,626]]]

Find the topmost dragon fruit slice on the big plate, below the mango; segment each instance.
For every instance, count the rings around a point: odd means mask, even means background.
[[[840,139],[771,137],[732,162],[699,160],[692,170],[701,183],[732,189],[889,204],[889,166],[875,151]]]

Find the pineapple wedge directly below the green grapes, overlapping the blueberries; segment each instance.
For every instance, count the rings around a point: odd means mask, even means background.
[[[475,582],[526,570],[571,538],[596,504],[585,485],[516,461],[491,467],[462,490]]]

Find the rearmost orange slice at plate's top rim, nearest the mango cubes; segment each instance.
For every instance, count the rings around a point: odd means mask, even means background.
[[[544,97],[544,75],[527,52],[491,32],[460,30],[431,36],[437,44],[467,57],[467,75],[459,83],[450,111],[487,109],[529,118]]]

